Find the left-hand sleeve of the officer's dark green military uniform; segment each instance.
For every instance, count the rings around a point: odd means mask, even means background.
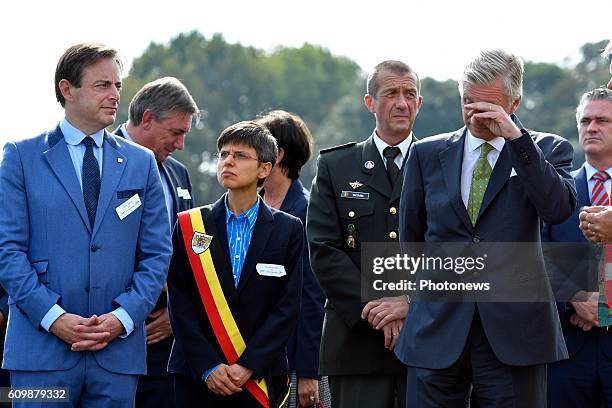
[[[317,162],[306,222],[310,264],[328,300],[353,327],[361,321],[365,306],[361,301],[361,271],[343,250],[328,160],[321,155]]]

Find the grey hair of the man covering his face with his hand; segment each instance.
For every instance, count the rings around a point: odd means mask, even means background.
[[[459,93],[463,95],[463,84],[491,85],[498,79],[504,82],[506,95],[515,101],[523,95],[523,60],[502,49],[482,51],[463,71],[459,81]]]

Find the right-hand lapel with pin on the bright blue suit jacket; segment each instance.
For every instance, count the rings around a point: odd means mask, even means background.
[[[96,222],[94,223],[92,237],[96,235],[102,220],[106,216],[108,204],[117,190],[117,185],[127,165],[127,158],[119,152],[115,138],[106,131],[104,131],[104,144],[102,148],[104,149],[104,157],[102,159],[102,180],[100,184],[100,197],[98,198],[98,209],[96,211]]]

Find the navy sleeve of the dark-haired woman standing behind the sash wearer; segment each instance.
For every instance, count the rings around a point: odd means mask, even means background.
[[[299,217],[300,220],[304,220],[306,218],[306,205],[299,208],[293,215]],[[310,257],[305,239],[302,270],[304,277],[300,314],[295,334],[296,344],[295,349],[288,350],[288,352],[294,353],[295,371],[298,377],[319,379],[319,347],[323,329],[325,295],[310,267]]]

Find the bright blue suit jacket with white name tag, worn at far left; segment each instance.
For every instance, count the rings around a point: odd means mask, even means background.
[[[98,209],[90,228],[83,193],[59,127],[7,143],[0,163],[0,283],[10,319],[3,368],[65,370],[83,356],[45,331],[58,304],[84,317],[123,307],[134,331],[94,353],[105,369],[143,374],[144,320],[166,278],[170,231],[159,173],[146,149],[108,132]],[[142,205],[123,220],[115,209]],[[38,350],[39,352],[32,352]]]

